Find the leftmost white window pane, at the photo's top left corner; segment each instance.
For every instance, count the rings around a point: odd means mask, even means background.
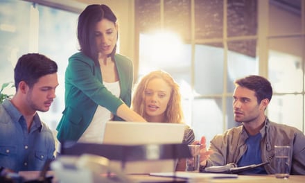
[[[0,85],[14,81],[17,59],[28,53],[30,6],[25,1],[0,1]]]

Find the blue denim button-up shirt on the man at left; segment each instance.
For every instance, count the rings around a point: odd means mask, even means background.
[[[30,132],[24,116],[9,100],[0,105],[0,166],[13,171],[40,171],[53,159],[55,141],[51,130],[35,114]]]

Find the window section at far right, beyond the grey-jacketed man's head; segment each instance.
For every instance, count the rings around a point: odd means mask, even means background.
[[[268,114],[304,132],[304,10],[302,1],[287,2],[269,1],[268,76],[274,95]]]

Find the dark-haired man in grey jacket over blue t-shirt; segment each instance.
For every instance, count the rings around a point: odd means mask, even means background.
[[[265,166],[243,173],[274,174],[275,145],[290,146],[290,174],[305,175],[305,136],[297,128],[274,123],[265,116],[272,98],[270,82],[261,76],[247,76],[235,81],[233,94],[234,120],[241,123],[211,140],[209,150],[202,137],[200,171],[207,166],[237,166],[261,164]]]

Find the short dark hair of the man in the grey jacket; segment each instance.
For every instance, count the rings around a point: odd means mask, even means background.
[[[268,98],[268,100],[271,101],[271,84],[266,78],[263,78],[262,76],[247,76],[245,78],[236,80],[235,85],[246,87],[247,89],[254,91],[257,98],[257,103],[261,103],[261,101],[265,98]]]

